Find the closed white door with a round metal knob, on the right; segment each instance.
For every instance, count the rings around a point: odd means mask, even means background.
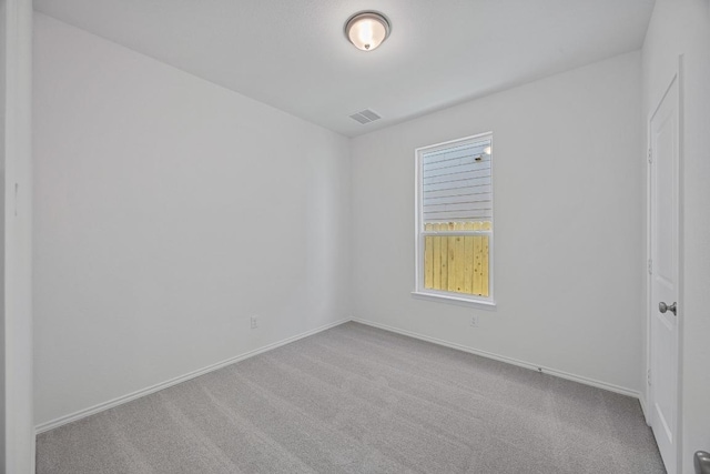
[[[669,474],[677,473],[680,97],[676,75],[649,122],[650,423]]]

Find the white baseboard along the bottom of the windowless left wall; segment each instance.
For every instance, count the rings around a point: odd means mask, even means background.
[[[163,389],[168,389],[169,386],[176,385],[176,384],[179,384],[181,382],[185,382],[185,381],[189,381],[191,379],[199,377],[200,375],[204,375],[206,373],[214,372],[214,371],[216,371],[219,369],[222,369],[222,367],[224,367],[226,365],[231,365],[231,364],[234,364],[236,362],[243,361],[245,359],[253,357],[254,355],[257,355],[257,354],[261,354],[263,352],[271,351],[273,349],[280,347],[280,346],[285,345],[285,344],[288,344],[290,342],[298,341],[300,339],[304,339],[304,337],[307,337],[310,335],[323,332],[325,330],[329,330],[331,327],[338,326],[338,325],[341,325],[343,323],[346,323],[348,321],[351,321],[351,320],[349,319],[345,319],[345,320],[336,321],[334,323],[329,323],[329,324],[316,327],[314,330],[306,331],[304,333],[296,334],[296,335],[291,336],[291,337],[286,337],[286,339],[282,340],[282,341],[274,342],[272,344],[264,345],[263,347],[255,349],[253,351],[248,351],[248,352],[245,352],[243,354],[235,355],[234,357],[230,357],[230,359],[226,359],[224,361],[217,362],[216,364],[207,365],[206,367],[199,369],[196,371],[190,372],[190,373],[184,374],[184,375],[180,375],[180,376],[171,379],[169,381],[158,383],[155,385],[149,386],[146,389],[139,390],[139,391],[133,392],[133,393],[129,393],[128,395],[119,396],[119,397],[110,400],[108,402],[99,403],[98,405],[91,406],[89,409],[80,410],[80,411],[71,413],[69,415],[60,416],[57,420],[52,420],[52,421],[49,421],[47,423],[42,423],[42,424],[37,425],[34,427],[34,430],[36,430],[37,434],[44,433],[45,431],[54,430],[55,427],[65,425],[65,424],[71,423],[71,422],[75,422],[77,420],[81,420],[81,418],[84,418],[87,416],[91,416],[91,415],[93,415],[95,413],[103,412],[104,410],[109,410],[109,409],[112,409],[114,406],[122,405],[122,404],[128,403],[128,402],[130,402],[132,400],[140,399],[141,396],[150,395],[151,393],[155,393],[155,392],[161,391]]]

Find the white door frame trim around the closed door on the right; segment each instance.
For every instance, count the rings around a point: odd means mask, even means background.
[[[673,71],[672,77],[669,81],[667,81],[667,85],[663,89],[662,94],[658,98],[657,101],[653,102],[653,109],[650,111],[646,125],[647,125],[647,159],[646,159],[646,258],[647,265],[651,262],[651,120],[653,115],[660,109],[661,103],[669,94],[673,82],[678,84],[678,97],[676,100],[678,101],[678,164],[676,169],[677,175],[677,189],[678,189],[678,229],[677,229],[677,238],[678,238],[678,317],[676,319],[677,324],[677,347],[678,347],[678,364],[677,364],[677,386],[676,386],[676,472],[678,474],[682,473],[682,354],[683,354],[683,268],[684,268],[684,244],[683,244],[683,213],[684,213],[684,204],[683,204],[683,56],[680,54],[678,57],[678,63]],[[652,279],[650,272],[647,268],[646,271],[646,299],[647,299],[647,307],[646,307],[646,410],[643,410],[643,415],[646,417],[646,423],[651,425],[651,416],[653,411],[653,392],[651,391],[650,374],[651,374],[651,317],[653,311],[656,311],[656,306],[651,301],[651,285]]]

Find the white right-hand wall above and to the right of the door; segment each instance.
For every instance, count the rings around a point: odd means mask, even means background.
[[[692,454],[710,451],[710,3],[657,0],[643,44],[643,119],[668,85],[683,54],[682,200],[684,270],[682,415],[680,461],[693,472]]]

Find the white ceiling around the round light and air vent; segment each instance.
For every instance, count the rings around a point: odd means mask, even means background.
[[[37,10],[346,135],[641,47],[653,0],[34,0]],[[343,33],[378,10],[372,52]],[[348,115],[369,108],[383,119]]]

